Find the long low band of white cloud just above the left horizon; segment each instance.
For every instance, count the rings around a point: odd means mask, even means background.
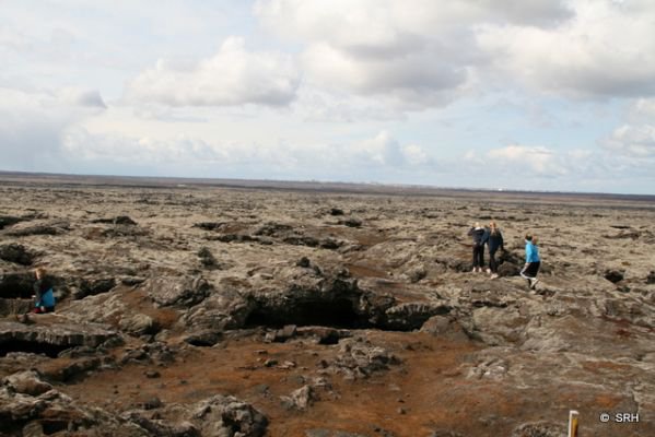
[[[187,173],[214,177],[238,167],[246,169],[247,176],[259,178],[282,172],[313,175],[317,179],[338,175],[347,180],[361,180],[369,172],[412,172],[431,164],[421,146],[400,145],[386,131],[370,139],[337,144],[290,144],[273,139],[261,144],[206,141],[184,134],[166,139],[137,138],[91,133],[73,127],[62,138],[61,152],[78,164],[102,162],[112,168],[145,165],[153,169],[177,168],[177,172],[184,168]]]

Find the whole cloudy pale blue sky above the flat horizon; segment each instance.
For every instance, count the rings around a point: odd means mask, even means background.
[[[0,170],[655,194],[655,2],[0,0]]]

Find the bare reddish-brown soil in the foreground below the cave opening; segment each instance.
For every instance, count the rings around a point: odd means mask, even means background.
[[[460,365],[479,350],[475,343],[453,343],[423,333],[370,331],[367,338],[384,344],[402,364],[364,380],[330,376],[334,391],[318,390],[318,400],[305,412],[286,411],[280,397],[302,387],[303,377],[318,375],[317,363],[334,356],[330,347],[338,345],[300,340],[262,345],[258,338],[232,339],[220,347],[189,349],[174,364],[159,368],[159,378],[145,376],[152,367],[131,364],[58,389],[84,403],[116,411],[139,406],[153,397],[165,404],[233,394],[269,417],[269,436],[299,437],[312,428],[363,435],[375,435],[376,428],[397,436],[426,436],[437,428],[466,436],[510,435],[518,423],[553,417],[565,422],[568,410],[575,405],[584,404],[586,411],[597,405],[601,412],[621,401],[611,394],[553,387],[525,393],[493,380],[466,378]],[[295,366],[266,367],[269,358]]]

